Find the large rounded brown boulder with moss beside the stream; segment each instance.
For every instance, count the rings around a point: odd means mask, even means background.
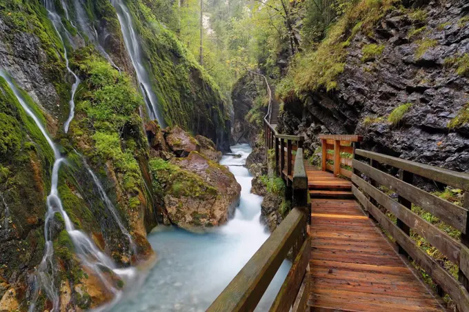
[[[225,224],[239,204],[241,186],[228,168],[197,152],[170,162],[152,159],[156,195],[168,219],[191,232]]]

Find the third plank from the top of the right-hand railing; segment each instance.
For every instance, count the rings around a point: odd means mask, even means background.
[[[352,175],[352,181],[365,191],[365,193],[375,198],[381,206],[390,211],[390,213],[399,218],[399,220],[402,220],[402,222],[413,228],[417,234],[425,238],[432,246],[435,246],[443,255],[446,255],[449,260],[455,264],[459,263],[461,244],[450,237],[450,235],[444,233],[430,222],[427,222],[406,206],[399,204],[385,193],[379,191],[375,186],[360,179],[357,175]],[[352,186],[352,192],[356,194],[359,191],[355,186]],[[360,197],[359,200],[360,199],[361,204],[366,206],[368,200],[363,201],[363,197]],[[403,233],[406,232],[403,231]]]

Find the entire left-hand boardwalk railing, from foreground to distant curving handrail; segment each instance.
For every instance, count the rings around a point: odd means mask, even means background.
[[[310,292],[307,271],[311,242],[307,234],[310,206],[308,177],[303,163],[303,137],[279,135],[270,125],[272,92],[268,81],[257,72],[248,72],[252,79],[261,76],[265,81],[269,97],[268,113],[264,117],[266,151],[275,149],[275,172],[286,179],[286,197],[291,197],[294,208],[208,311],[254,311],[290,250],[294,261],[269,311],[306,311]]]

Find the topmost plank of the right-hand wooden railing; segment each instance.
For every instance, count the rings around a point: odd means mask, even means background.
[[[418,162],[411,162],[410,160],[400,159],[388,155],[369,152],[368,150],[356,150],[355,153],[362,157],[376,159],[382,164],[401,168],[403,170],[415,173],[421,177],[426,177],[443,184],[462,188],[464,191],[469,191],[469,175],[467,173],[457,173],[452,170],[446,170]]]

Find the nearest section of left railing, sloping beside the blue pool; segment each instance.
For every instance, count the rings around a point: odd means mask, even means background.
[[[295,261],[269,311],[305,311],[311,246],[307,213],[305,208],[293,208],[207,311],[254,311],[290,249]]]

